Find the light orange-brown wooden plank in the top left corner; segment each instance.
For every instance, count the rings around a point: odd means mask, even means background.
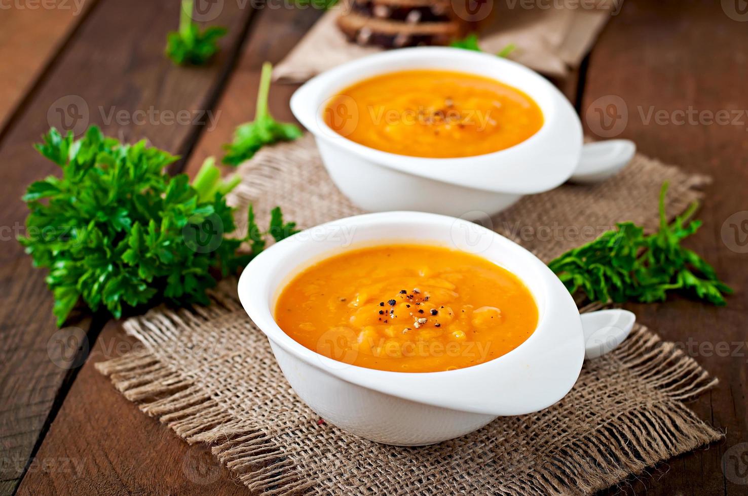
[[[0,132],[96,0],[8,2],[0,16]]]

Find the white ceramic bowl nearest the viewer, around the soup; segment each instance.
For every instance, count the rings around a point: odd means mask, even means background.
[[[404,373],[330,359],[298,344],[275,323],[275,301],[299,271],[346,249],[397,241],[461,249],[515,273],[538,305],[536,331],[515,350],[480,365]],[[239,279],[239,298],[269,338],[301,400],[326,421],[387,444],[431,444],[469,433],[499,415],[544,409],[574,385],[585,353],[577,306],[542,261],[488,229],[442,215],[365,214],[308,229],[254,258]],[[615,347],[620,333],[616,339],[603,340],[609,346],[598,354]]]

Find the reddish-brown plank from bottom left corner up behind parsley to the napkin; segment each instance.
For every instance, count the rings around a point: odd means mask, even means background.
[[[190,171],[197,170],[208,155],[220,157],[221,144],[230,140],[233,128],[252,119],[260,65],[266,60],[280,61],[317,16],[319,12],[312,10],[288,9],[258,14],[241,62],[216,108],[221,113],[218,127],[200,137],[188,161]],[[278,84],[272,88],[270,108],[281,120],[292,118],[288,99],[294,89]],[[189,447],[167,427],[139,412],[114,390],[109,379],[94,370],[93,363],[119,356],[130,342],[114,323],[99,335],[96,353],[73,382],[37,453],[38,468],[28,471],[19,494],[246,494],[243,486],[230,481],[229,474],[212,465],[206,447]],[[45,462],[50,467],[55,462],[67,464],[67,470],[45,470]],[[197,468],[190,468],[194,465]],[[204,475],[196,476],[195,471]]]

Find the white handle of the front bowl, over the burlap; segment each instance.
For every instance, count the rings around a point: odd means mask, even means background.
[[[584,358],[596,359],[614,350],[631,332],[636,315],[628,310],[612,309],[581,314],[584,333]]]

